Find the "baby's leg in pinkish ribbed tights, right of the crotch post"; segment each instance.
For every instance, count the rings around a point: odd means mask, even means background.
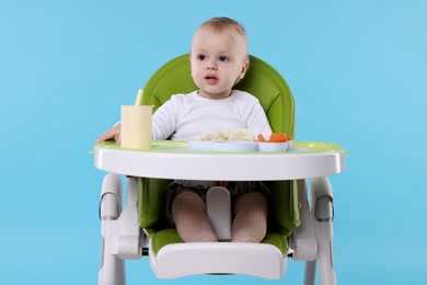
[[[267,232],[267,201],[259,192],[242,194],[234,204],[234,242],[261,242]]]

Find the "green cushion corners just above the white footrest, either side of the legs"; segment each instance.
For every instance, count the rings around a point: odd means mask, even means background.
[[[158,254],[159,250],[164,246],[183,242],[184,241],[180,238],[176,229],[174,228],[163,229],[151,236],[151,247],[155,254]],[[268,232],[262,243],[275,246],[280,250],[284,256],[288,249],[286,238],[277,232]]]

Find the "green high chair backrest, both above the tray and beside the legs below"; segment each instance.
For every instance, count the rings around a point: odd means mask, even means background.
[[[284,78],[268,64],[250,56],[250,68],[244,79],[234,89],[255,95],[267,114],[274,133],[295,135],[295,102]],[[176,93],[197,90],[191,76],[189,55],[172,59],[162,66],[147,82],[143,105],[153,105],[154,111]],[[140,179],[138,185],[139,225],[146,232],[155,232],[164,216],[164,196],[161,194],[169,181]],[[274,228],[282,236],[300,223],[297,189],[292,181],[272,181],[269,217]],[[145,205],[145,206],[140,206]]]

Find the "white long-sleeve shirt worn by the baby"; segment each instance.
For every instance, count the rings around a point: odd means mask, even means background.
[[[247,128],[255,136],[269,137],[272,128],[259,101],[252,94],[233,90],[226,99],[211,100],[198,95],[175,94],[161,105],[152,117],[154,140],[198,139],[204,134],[215,134]]]

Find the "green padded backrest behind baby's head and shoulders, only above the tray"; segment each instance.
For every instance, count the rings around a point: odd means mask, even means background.
[[[268,64],[250,56],[246,76],[234,89],[246,91],[256,96],[273,128],[293,137],[295,103],[291,91],[282,77]],[[191,76],[189,55],[172,59],[162,66],[147,82],[143,105],[153,105],[154,111],[176,93],[189,93],[197,90]]]

